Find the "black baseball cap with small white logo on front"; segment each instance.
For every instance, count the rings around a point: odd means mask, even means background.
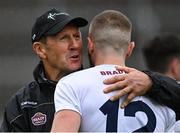
[[[36,19],[32,28],[32,43],[39,41],[43,36],[55,35],[69,24],[84,27],[88,21],[82,17],[72,17],[65,12],[53,8]]]

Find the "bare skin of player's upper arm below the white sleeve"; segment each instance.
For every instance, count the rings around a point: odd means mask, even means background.
[[[72,110],[61,110],[55,114],[51,132],[78,132],[81,116]]]

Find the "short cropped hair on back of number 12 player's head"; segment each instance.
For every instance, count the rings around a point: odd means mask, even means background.
[[[131,21],[124,14],[115,10],[105,10],[91,21],[89,36],[96,48],[102,50],[111,47],[122,53],[131,40],[131,30]]]

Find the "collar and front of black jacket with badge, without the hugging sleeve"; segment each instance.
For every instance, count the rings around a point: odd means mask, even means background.
[[[40,62],[34,70],[34,81],[30,82],[8,102],[1,131],[4,132],[49,132],[54,108],[56,82],[44,77]]]

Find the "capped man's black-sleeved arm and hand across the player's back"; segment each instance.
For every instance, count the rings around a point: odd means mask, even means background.
[[[180,85],[171,78],[161,74],[145,71],[141,72],[134,68],[117,67],[126,72],[125,75],[114,76],[104,83],[113,85],[105,88],[105,93],[119,90],[111,99],[128,94],[122,107],[125,107],[135,96],[145,93],[160,104],[165,104],[173,110],[180,112]]]

